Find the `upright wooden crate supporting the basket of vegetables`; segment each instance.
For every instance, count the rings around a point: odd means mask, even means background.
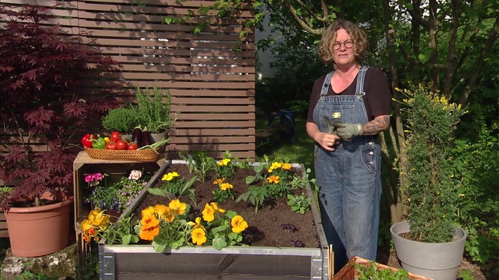
[[[143,170],[147,175],[156,173],[166,159],[160,156],[155,163],[140,161],[110,161],[90,158],[86,151],[78,153],[73,162],[73,184],[74,184],[74,231],[76,232],[77,253],[79,260],[89,252],[90,247],[82,239],[80,223],[89,215],[91,206],[85,201],[83,188],[86,186],[85,176],[90,173],[107,173],[113,182],[120,180],[130,170]]]

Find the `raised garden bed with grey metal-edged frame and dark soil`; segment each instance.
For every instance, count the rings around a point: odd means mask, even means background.
[[[187,177],[188,173],[180,168],[180,165],[186,168],[182,163],[185,162],[168,161],[162,165],[146,189],[155,187],[162,176],[171,171]],[[303,165],[293,165],[293,168],[298,172],[305,170]],[[242,193],[245,190],[240,187],[244,182],[241,180],[247,174],[242,170],[240,172],[231,182]],[[203,192],[201,189],[210,185],[213,189],[213,180],[208,179],[204,184],[196,181],[196,198],[200,199],[198,206],[202,207],[209,200],[206,190]],[[310,185],[307,184],[303,192],[313,197]],[[146,190],[142,191],[135,202],[125,209],[122,217],[140,213],[144,203],[152,203],[149,196]],[[235,206],[234,200],[220,204],[223,209],[237,211],[248,222],[250,227],[244,236],[250,245],[221,250],[212,246],[179,247],[176,250],[167,247],[164,252],[158,253],[149,244],[106,245],[106,240],[101,240],[101,279],[327,279],[328,248],[315,199],[312,199],[311,209],[305,215],[291,211],[286,202],[286,198],[276,199],[262,205],[256,213],[247,202],[238,202],[240,206]],[[286,220],[279,220],[279,214],[284,211]],[[266,223],[271,228],[265,228]],[[290,230],[290,225],[297,231]]]

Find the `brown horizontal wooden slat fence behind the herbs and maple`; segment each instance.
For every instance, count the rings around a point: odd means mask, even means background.
[[[198,8],[213,1],[0,0],[9,5],[35,2],[58,4],[50,10],[57,16],[51,24],[81,36],[84,45],[98,47],[120,63],[120,71],[107,78],[124,93],[135,93],[136,86],[169,91],[172,113],[178,113],[176,126],[169,131],[169,158],[178,158],[179,151],[207,151],[217,158],[230,151],[238,158],[254,158],[253,30],[240,40],[253,16],[250,5],[233,18],[209,22],[211,17]],[[182,23],[165,23],[165,17],[192,12]],[[201,25],[195,34],[194,28]],[[95,90],[91,82],[82,89]]]

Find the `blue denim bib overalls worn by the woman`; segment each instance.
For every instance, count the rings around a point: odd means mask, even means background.
[[[357,74],[355,95],[326,96],[333,72],[327,74],[313,111],[321,132],[328,132],[325,116],[331,122],[369,122],[362,99],[366,94],[366,70],[362,66]],[[335,272],[354,256],[375,260],[381,198],[381,148],[377,136],[342,140],[332,152],[315,144],[314,153],[321,219],[327,242],[335,252]]]

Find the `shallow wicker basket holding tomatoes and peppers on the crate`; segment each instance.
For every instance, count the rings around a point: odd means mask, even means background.
[[[86,153],[89,157],[95,159],[111,160],[111,161],[147,161],[155,162],[159,158],[159,148],[144,150],[103,150],[100,148],[86,148]]]

